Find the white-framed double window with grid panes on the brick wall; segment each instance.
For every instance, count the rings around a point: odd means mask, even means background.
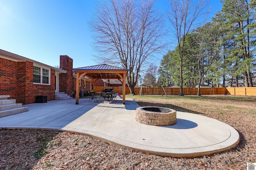
[[[33,83],[50,84],[50,70],[39,66],[33,66]]]

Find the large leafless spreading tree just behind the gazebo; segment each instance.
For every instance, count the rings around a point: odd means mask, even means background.
[[[153,0],[106,0],[96,9],[90,23],[96,59],[128,69],[127,84],[134,94],[142,64],[164,47],[162,16]]]

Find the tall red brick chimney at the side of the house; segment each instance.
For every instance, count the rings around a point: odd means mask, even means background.
[[[73,59],[67,55],[60,55],[60,68],[66,70],[66,74],[60,74],[60,92],[65,92],[72,96],[73,92]]]

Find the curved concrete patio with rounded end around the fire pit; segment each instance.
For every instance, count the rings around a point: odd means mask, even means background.
[[[29,111],[0,118],[0,127],[61,129],[88,134],[136,151],[160,156],[195,157],[233,148],[239,142],[231,126],[202,115],[177,111],[177,123],[157,127],[136,121],[131,99],[88,102],[88,99],[53,100],[24,105]]]

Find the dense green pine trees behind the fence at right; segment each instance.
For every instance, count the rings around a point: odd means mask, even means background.
[[[198,87],[198,95],[202,85],[256,85],[255,0],[222,0],[221,3],[222,10],[212,22],[183,34],[182,58],[179,45],[164,55],[158,70],[159,83]]]

